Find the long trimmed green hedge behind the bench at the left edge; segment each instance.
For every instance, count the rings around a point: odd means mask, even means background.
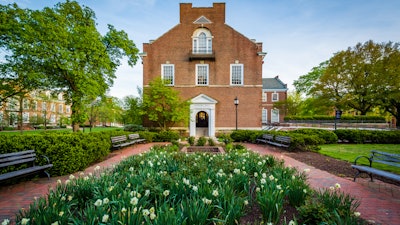
[[[84,170],[110,153],[111,136],[123,131],[95,133],[50,133],[35,135],[0,135],[0,154],[34,149],[38,155],[49,157],[52,176],[61,176]],[[38,158],[39,164],[45,163]],[[23,166],[23,165],[22,165]],[[9,170],[17,168],[9,168]],[[2,170],[2,173],[6,172]]]

